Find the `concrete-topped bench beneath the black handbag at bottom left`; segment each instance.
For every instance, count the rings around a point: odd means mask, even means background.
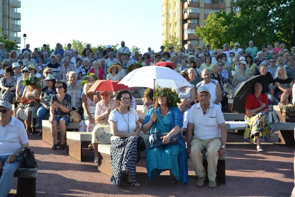
[[[18,178],[16,195],[35,197],[37,176],[37,168],[19,168],[14,173],[14,177]]]

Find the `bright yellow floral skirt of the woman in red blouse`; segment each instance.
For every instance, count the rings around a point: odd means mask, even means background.
[[[259,132],[260,141],[267,141],[274,134],[272,124],[267,122],[267,114],[258,113],[255,116],[245,116],[246,128],[244,141],[253,144],[255,142],[255,132]]]

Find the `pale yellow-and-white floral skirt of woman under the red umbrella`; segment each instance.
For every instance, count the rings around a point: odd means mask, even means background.
[[[93,131],[92,131],[92,140],[91,143],[97,143],[97,144],[110,144],[110,137],[111,129],[110,124],[96,124]]]

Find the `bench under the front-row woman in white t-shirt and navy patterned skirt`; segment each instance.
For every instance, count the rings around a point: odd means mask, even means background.
[[[140,136],[145,141],[145,144],[147,146],[147,139],[148,139],[148,134],[143,134],[142,132],[139,133]],[[103,172],[104,174],[108,176],[112,176],[112,166],[110,162],[110,144],[99,144],[98,145],[98,152],[99,152],[99,161],[98,161],[98,170],[100,172]],[[145,150],[140,152],[140,156],[142,158],[145,158]]]

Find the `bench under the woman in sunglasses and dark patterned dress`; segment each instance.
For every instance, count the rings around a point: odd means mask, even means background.
[[[69,123],[69,125],[67,125],[67,131],[78,131],[79,124],[80,123]],[[50,129],[51,123],[49,123],[49,120],[42,120],[42,126],[43,126],[42,140],[46,141],[50,145],[53,145],[53,137],[52,137],[51,129]],[[57,135],[57,141],[58,141],[58,144],[60,144],[59,135]],[[66,141],[67,141],[67,134],[66,134]]]

